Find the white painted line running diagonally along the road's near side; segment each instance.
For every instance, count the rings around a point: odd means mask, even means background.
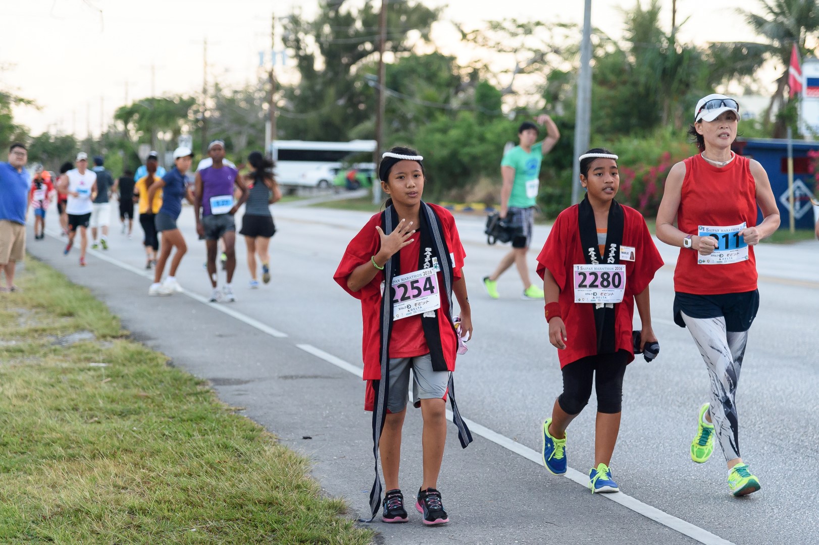
[[[53,236],[57,240],[60,240],[60,236],[54,234],[54,232],[48,232],[48,235]],[[144,270],[138,269],[129,265],[128,263],[124,263],[119,259],[111,258],[105,254],[102,254],[96,250],[88,250],[88,253],[93,254],[95,257],[106,261],[107,263],[111,263],[120,268],[124,268],[126,271],[134,272],[142,277],[149,277],[149,274]],[[282,331],[278,331],[273,327],[269,327],[266,324],[259,322],[255,318],[250,318],[245,314],[242,314],[236,310],[228,309],[224,307],[224,305],[216,305],[210,304],[206,297],[202,297],[201,295],[191,293],[190,291],[184,291],[184,295],[188,295],[193,300],[197,300],[200,303],[207,304],[211,309],[219,310],[222,313],[228,314],[231,318],[236,318],[240,322],[246,323],[250,327],[255,327],[259,331],[268,334],[269,336],[273,336],[276,338],[284,338],[287,337],[287,333],[283,333]],[[663,320],[662,322],[666,322]],[[669,321],[670,322],[670,321]],[[671,322],[673,323],[673,322]],[[322,349],[317,349],[313,345],[305,345],[300,344],[296,345],[296,348],[302,349],[307,353],[313,354],[316,358],[322,359],[327,363],[332,363],[336,367],[339,367],[346,372],[350,372],[355,376],[362,377],[364,376],[364,369],[361,367],[357,367],[352,363],[348,363],[344,361],[342,358],[337,358],[333,356],[333,354],[328,354],[324,352]],[[452,412],[447,410],[446,417],[451,421],[452,420]],[[509,439],[505,435],[500,435],[498,432],[490,430],[486,426],[481,426],[477,422],[468,420],[464,418],[467,426],[469,426],[469,430],[473,432],[475,435],[480,435],[484,439],[490,440],[492,443],[500,445],[501,447],[518,454],[526,458],[531,462],[535,462],[538,466],[541,466],[542,459],[541,453],[536,452],[532,448],[528,448],[527,446],[514,441],[513,439]],[[581,484],[584,488],[589,482],[589,477],[584,475],[580,471],[574,470],[571,467],[568,468],[566,471],[566,478],[573,480],[577,484]],[[640,500],[636,498],[632,498],[626,493],[617,492],[617,493],[607,493],[602,494],[604,498],[610,499],[613,502],[619,503],[622,507],[626,507],[627,509],[631,509],[631,511],[635,511],[646,518],[654,520],[659,524],[666,526],[667,528],[676,530],[680,534],[684,534],[689,538],[695,539],[699,543],[704,543],[704,545],[735,545],[726,539],[720,538],[719,536],[708,532],[706,529],[702,529],[699,526],[692,525],[690,522],[686,522],[685,520],[678,519],[676,516],[669,515],[667,512],[662,511],[656,507],[652,507],[647,503],[640,502]]]

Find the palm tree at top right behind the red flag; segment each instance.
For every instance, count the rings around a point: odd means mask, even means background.
[[[752,13],[746,10],[737,10],[741,16],[760,36],[767,38],[764,46],[766,56],[780,61],[784,66],[782,75],[776,79],[776,92],[771,97],[771,104],[765,115],[765,124],[770,123],[771,111],[778,106],[782,110],[785,106],[785,85],[788,83],[788,67],[790,65],[790,51],[794,43],[799,52],[805,54],[805,38],[808,34],[815,34],[819,30],[819,2],[817,0],[760,0],[762,11]],[[781,137],[785,130],[785,123],[778,119],[774,128],[774,136]]]

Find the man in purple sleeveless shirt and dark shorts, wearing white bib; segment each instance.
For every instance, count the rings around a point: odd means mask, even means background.
[[[236,270],[236,253],[233,245],[236,241],[236,223],[233,214],[247,200],[247,187],[237,169],[224,164],[224,142],[215,140],[208,146],[208,155],[213,164],[197,172],[196,196],[194,197],[193,211],[197,218],[197,233],[205,237],[207,246],[207,274],[213,291],[210,302],[220,300],[235,301],[233,295],[233,271]],[[238,202],[233,198],[233,187],[242,191]],[[201,208],[201,216],[200,210]],[[217,287],[218,273],[216,272],[216,254],[219,238],[224,243],[224,253],[228,260],[225,263],[227,283],[219,291]]]

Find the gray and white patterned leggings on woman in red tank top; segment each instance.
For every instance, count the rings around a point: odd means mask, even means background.
[[[740,381],[748,331],[726,331],[725,318],[690,318],[681,313],[711,378],[711,421],[726,462],[740,457],[736,385]]]

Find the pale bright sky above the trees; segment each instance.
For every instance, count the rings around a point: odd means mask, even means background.
[[[362,0],[350,0],[351,4]],[[442,20],[466,27],[482,20],[514,17],[582,25],[583,0],[423,0],[446,5]],[[613,38],[622,34],[622,7],[636,0],[592,0],[593,26]],[[649,0],[642,0],[644,7]],[[753,33],[735,13],[735,0],[677,0],[683,41],[753,41]],[[671,26],[672,0],[662,0],[662,18]],[[201,90],[203,41],[208,40],[208,79],[223,86],[256,80],[258,52],[269,49],[270,17],[286,16],[299,5],[305,15],[315,0],[0,0],[0,87],[33,99],[40,110],[25,107],[16,121],[32,131],[98,134],[114,110],[152,93],[152,65],[157,95]],[[536,8],[535,8],[536,7]],[[758,2],[745,2],[758,9]],[[100,12],[102,11],[102,13]],[[716,16],[716,20],[715,20]],[[457,55],[451,26],[433,29],[433,40]],[[292,64],[292,61],[291,61]],[[281,67],[281,70],[292,68]],[[284,75],[284,74],[283,74]],[[127,93],[127,95],[126,95]],[[101,117],[102,114],[102,117]]]

